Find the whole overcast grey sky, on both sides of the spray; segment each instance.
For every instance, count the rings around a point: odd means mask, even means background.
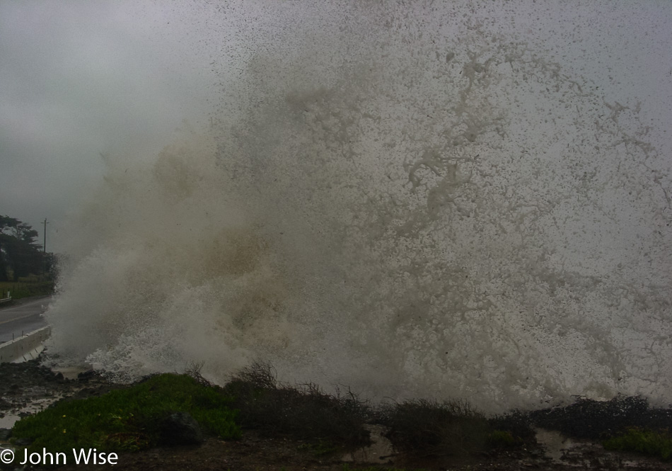
[[[657,127],[672,123],[672,3],[486,4],[501,8],[505,21],[496,21],[497,11],[487,13],[497,28],[537,40],[560,33],[552,32],[553,25],[567,32],[574,24],[576,40],[554,59],[596,84],[609,84],[608,96],[635,96]],[[227,78],[235,61],[226,57],[245,50],[241,38],[255,27],[250,11],[277,8],[265,12],[268,19],[288,6],[286,19],[278,21],[299,28],[297,12],[304,7],[340,8],[337,1],[320,5],[325,7],[274,0],[0,0],[0,214],[40,233],[45,217],[50,231],[62,227],[82,188],[100,181],[101,152],[152,156],[183,120],[207,124],[217,94],[235,76]],[[235,6],[245,10],[245,21],[236,18]],[[608,78],[614,75],[617,80]],[[47,248],[58,251],[48,240]]]

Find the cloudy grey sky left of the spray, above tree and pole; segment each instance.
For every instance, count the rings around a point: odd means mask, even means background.
[[[56,230],[101,152],[156,154],[183,119],[207,120],[216,77],[180,8],[0,1],[1,214]]]

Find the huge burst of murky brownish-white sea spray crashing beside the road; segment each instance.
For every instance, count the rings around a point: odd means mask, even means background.
[[[255,13],[208,129],[105,159],[51,351],[494,411],[671,399],[671,178],[636,97],[468,2],[327,3]]]

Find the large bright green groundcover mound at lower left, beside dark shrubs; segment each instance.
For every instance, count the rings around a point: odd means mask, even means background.
[[[162,422],[174,412],[190,414],[207,433],[241,437],[231,397],[188,375],[162,374],[100,397],[59,402],[18,421],[13,440],[32,440],[28,452],[71,448],[142,450],[161,443]]]

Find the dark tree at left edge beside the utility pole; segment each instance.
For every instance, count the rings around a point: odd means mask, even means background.
[[[8,216],[0,216],[0,281],[9,273],[14,281],[20,276],[44,272],[45,255],[35,243],[37,231],[30,225]]]

